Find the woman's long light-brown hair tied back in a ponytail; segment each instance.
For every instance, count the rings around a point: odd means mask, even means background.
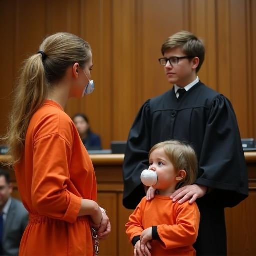
[[[8,165],[21,159],[29,121],[44,103],[48,91],[64,76],[69,66],[77,62],[84,68],[91,54],[90,45],[86,41],[65,32],[46,37],[39,51],[23,63],[14,91],[7,134],[1,138],[12,156]]]

